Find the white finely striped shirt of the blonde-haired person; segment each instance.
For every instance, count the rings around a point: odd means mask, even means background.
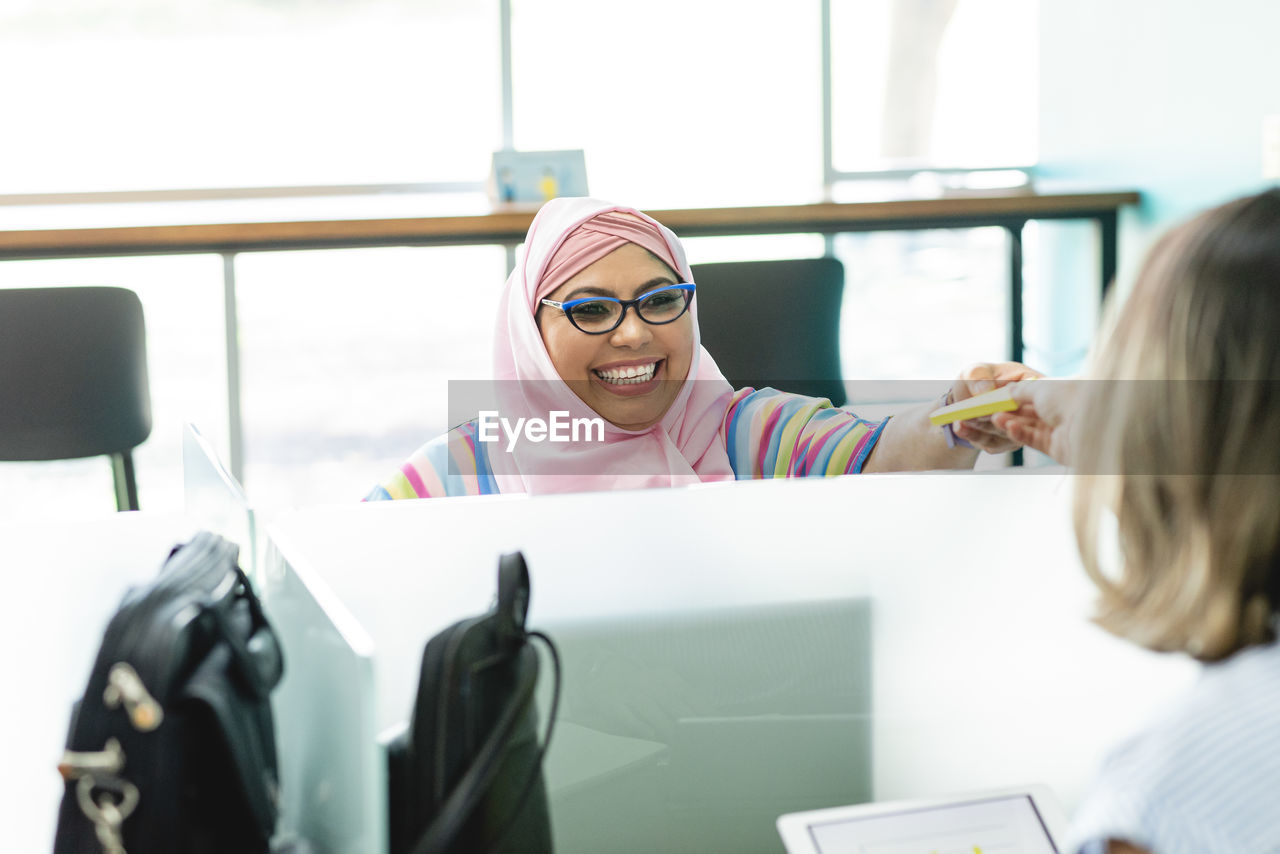
[[[1280,853],[1280,644],[1206,666],[1107,758],[1065,850],[1101,853],[1108,839],[1155,854]]]

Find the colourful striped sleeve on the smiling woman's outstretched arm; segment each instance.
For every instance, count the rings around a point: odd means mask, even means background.
[[[858,474],[886,423],[826,398],[744,388],[724,414],[724,447],[739,480]]]

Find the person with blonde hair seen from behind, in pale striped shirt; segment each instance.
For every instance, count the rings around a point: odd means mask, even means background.
[[[1075,469],[1097,622],[1204,667],[1108,758],[1068,850],[1280,851],[1280,188],[1172,229],[1111,309],[1087,379],[1020,383],[992,421]]]

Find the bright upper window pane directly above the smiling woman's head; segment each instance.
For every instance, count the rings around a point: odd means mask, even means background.
[[[636,207],[822,192],[817,3],[513,0],[516,147],[585,149]]]

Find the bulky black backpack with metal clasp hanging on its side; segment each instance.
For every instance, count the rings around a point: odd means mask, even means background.
[[[237,552],[197,534],[125,594],[72,712],[55,854],[269,850],[284,665]]]

